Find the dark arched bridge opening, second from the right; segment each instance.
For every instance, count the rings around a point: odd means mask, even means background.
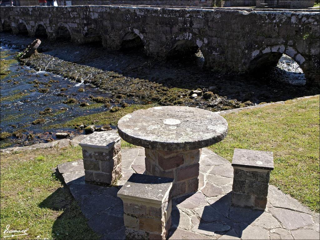
[[[169,51],[168,59],[178,59],[183,61],[197,61],[204,64],[204,56],[196,43],[191,40],[179,40],[173,44]]]

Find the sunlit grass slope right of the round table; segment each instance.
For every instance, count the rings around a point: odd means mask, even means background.
[[[319,96],[225,118],[228,136],[210,148],[229,161],[234,148],[273,151],[270,184],[319,212]]]

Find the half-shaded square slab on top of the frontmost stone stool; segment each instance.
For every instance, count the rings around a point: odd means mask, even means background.
[[[172,178],[133,173],[119,190],[120,198],[162,204],[172,188]]]

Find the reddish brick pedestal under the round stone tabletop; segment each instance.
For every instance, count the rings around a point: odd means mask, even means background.
[[[159,151],[145,148],[146,174],[173,178],[172,197],[196,192],[201,149]]]

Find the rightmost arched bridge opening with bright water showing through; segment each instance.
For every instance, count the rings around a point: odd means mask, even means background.
[[[249,71],[260,78],[281,81],[289,84],[304,85],[305,74],[300,64],[292,57],[281,52],[268,52],[253,59]]]

